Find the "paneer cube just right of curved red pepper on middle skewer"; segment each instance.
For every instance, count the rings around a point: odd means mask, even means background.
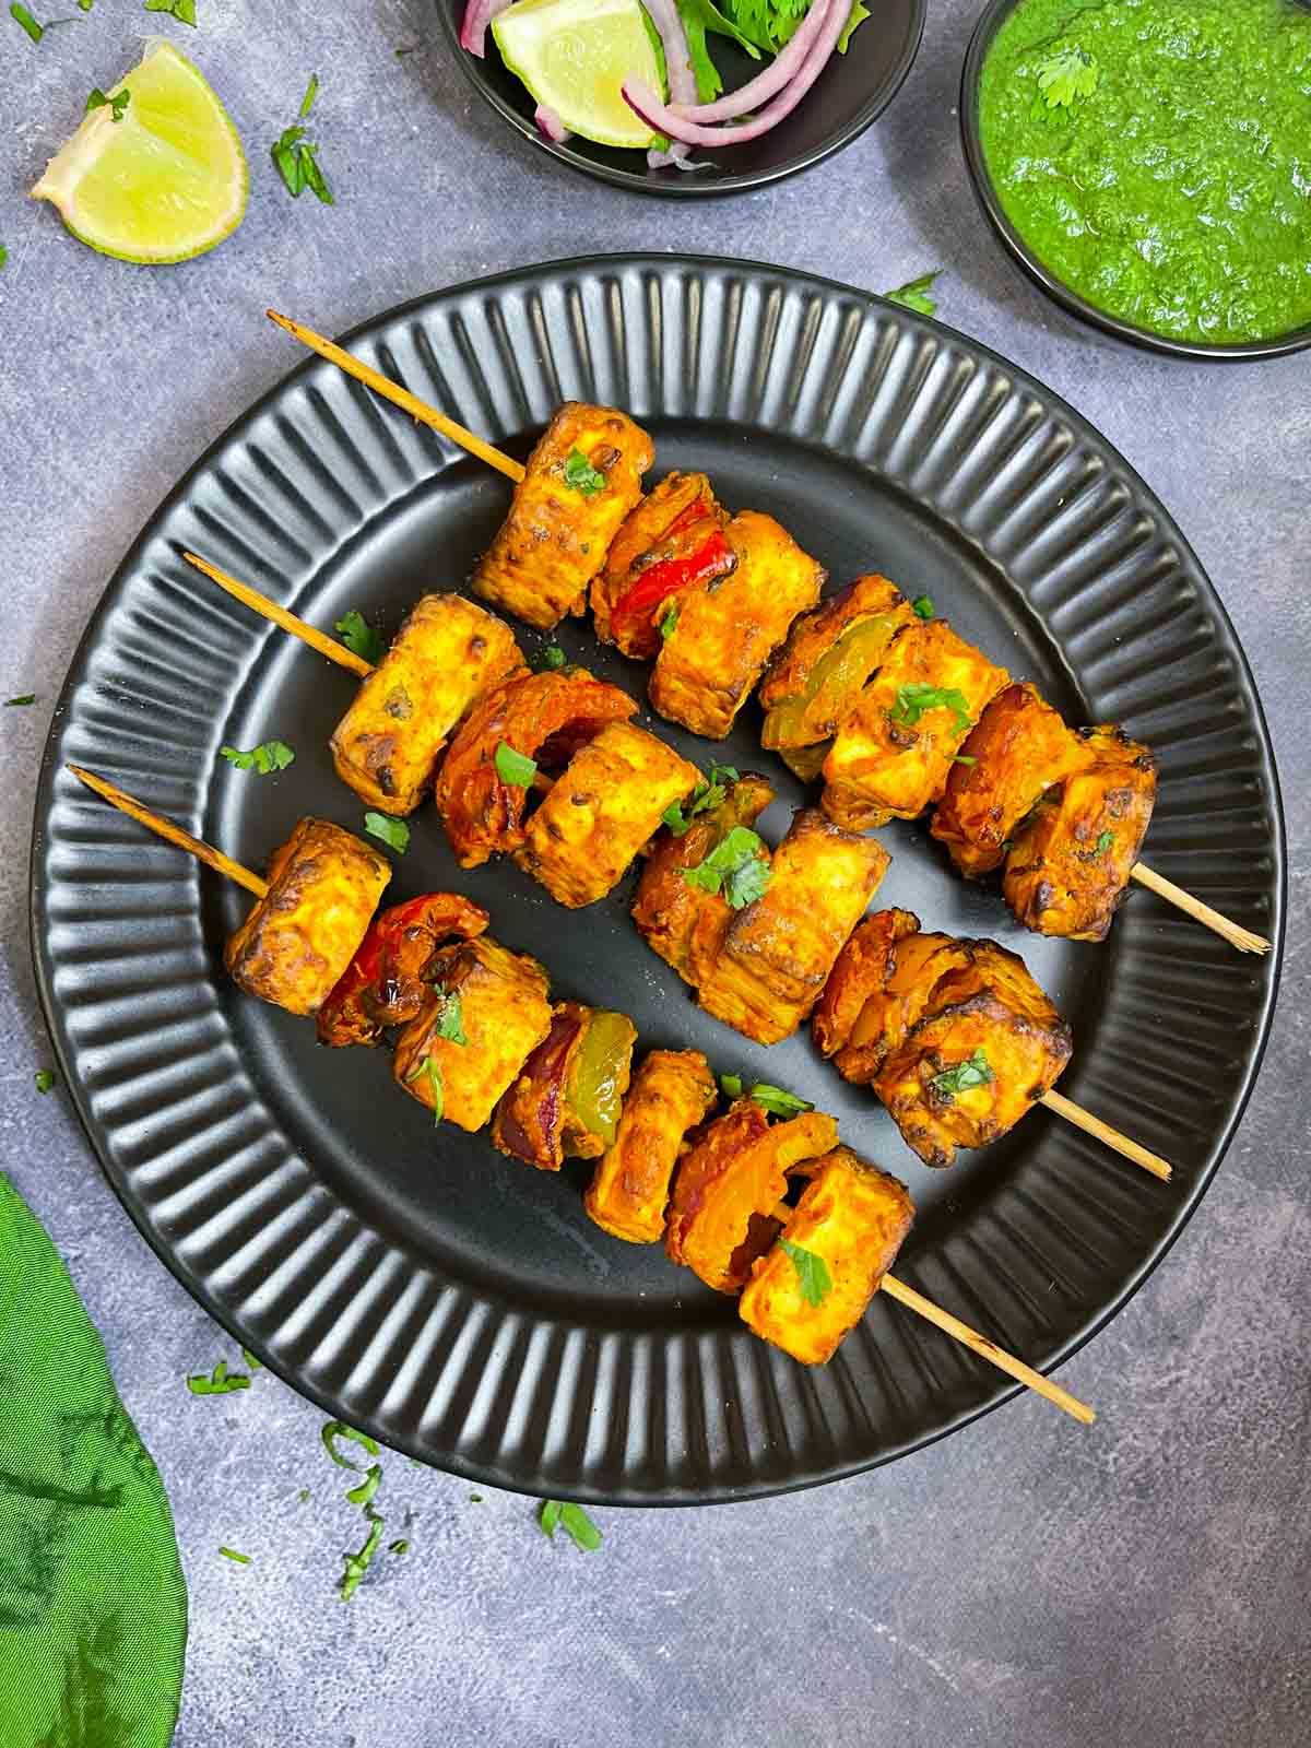
[[[631,722],[610,722],[556,778],[514,860],[559,904],[596,904],[699,781],[673,746]]]

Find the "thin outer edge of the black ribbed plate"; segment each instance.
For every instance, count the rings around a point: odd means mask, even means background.
[[[989,364],[1000,367],[1014,379],[1016,386],[1026,386],[1037,390],[1040,399],[1051,409],[1058,411],[1061,418],[1068,420],[1077,434],[1091,439],[1094,446],[1101,447],[1106,454],[1110,454],[1117,463],[1117,467],[1122,468],[1127,481],[1133,486],[1136,486],[1147,496],[1148,502],[1159,505],[1159,514],[1164,519],[1162,528],[1171,538],[1171,542],[1178,544],[1180,552],[1190,563],[1194,573],[1192,580],[1201,587],[1201,594],[1206,601],[1206,607],[1215,614],[1220,629],[1225,633],[1229,652],[1232,654],[1238,664],[1239,678],[1241,682],[1245,682],[1245,690],[1250,694],[1253,708],[1253,725],[1259,736],[1257,757],[1260,762],[1260,769],[1266,780],[1269,781],[1269,794],[1271,794],[1271,816],[1274,827],[1271,837],[1271,855],[1274,860],[1274,877],[1273,877],[1274,926],[1273,926],[1271,954],[1264,961],[1271,967],[1271,977],[1260,1002],[1259,1028],[1253,1038],[1250,1061],[1245,1070],[1241,1094],[1234,1103],[1234,1108],[1229,1115],[1229,1120],[1224,1126],[1224,1131],[1211,1145],[1211,1154],[1213,1154],[1211,1161],[1204,1169],[1199,1171],[1196,1183],[1190,1190],[1190,1196],[1187,1203],[1175,1213],[1169,1231],[1152,1245],[1150,1253],[1145,1257],[1140,1267],[1129,1276],[1124,1287],[1113,1294],[1108,1304],[1092,1311],[1089,1321],[1086,1321],[1068,1341],[1065,1341],[1054,1353],[1037,1362],[1037,1369],[1044,1372],[1044,1376],[1051,1376],[1061,1365],[1068,1363],[1089,1341],[1092,1341],[1094,1335],[1098,1335],[1106,1327],[1106,1323],[1110,1323],[1115,1316],[1119,1316],[1119,1313],[1127,1306],[1127,1302],[1134,1297],[1134,1294],[1143,1287],[1147,1278],[1164,1262],[1169,1250],[1175,1246],[1185,1227],[1194,1218],[1197,1208],[1203,1203],[1203,1197],[1206,1196],[1211,1182],[1215,1180],[1215,1175],[1220,1169],[1220,1164],[1224,1162],[1229,1147],[1232,1145],[1234,1134],[1238,1133],[1238,1127],[1243,1120],[1243,1115],[1248,1108],[1248,1103],[1257,1087],[1257,1080],[1260,1077],[1266,1049],[1269,1045],[1269,1035],[1271,1035],[1274,1007],[1278,1002],[1280,981],[1283,970],[1287,912],[1288,912],[1288,853],[1287,853],[1287,818],[1283,808],[1278,764],[1274,757],[1274,745],[1271,739],[1269,724],[1266,720],[1266,711],[1260,699],[1260,690],[1255,682],[1255,675],[1252,671],[1252,664],[1248,662],[1246,652],[1238,638],[1229,612],[1215,589],[1215,584],[1211,582],[1208,572],[1197,559],[1197,554],[1192,551],[1192,545],[1189,544],[1187,537],[1178,528],[1171,510],[1161,500],[1161,496],[1147,484],[1147,481],[1138,474],[1138,470],[1110,442],[1110,439],[1106,439],[1101,432],[1098,432],[1098,428],[1084,414],[1080,414],[1075,407],[1072,407],[1056,390],[1049,388],[1031,372],[1014,364],[1012,360],[1005,358],[1003,355],[996,353],[991,346],[984,344],[982,341],[975,341],[968,334],[963,334],[961,330],[953,329],[944,322],[923,316],[918,311],[905,309],[900,304],[890,304],[888,299],[879,297],[874,292],[867,292],[860,287],[848,285],[841,280],[832,280],[829,276],[808,273],[797,267],[783,267],[771,262],[748,260],[731,255],[713,255],[704,252],[669,253],[669,255],[652,253],[647,250],[626,250],[617,253],[600,252],[600,253],[563,257],[549,262],[537,262],[524,267],[509,267],[495,274],[484,274],[474,280],[461,280],[451,285],[444,285],[418,294],[416,297],[406,299],[404,302],[390,306],[388,309],[379,311],[355,323],[351,329],[348,329],[344,334],[339,336],[339,343],[350,348],[353,341],[381,332],[388,325],[411,318],[418,311],[427,309],[446,299],[458,301],[470,294],[486,294],[496,288],[509,288],[509,287],[523,288],[549,278],[563,278],[563,276],[577,278],[577,276],[586,276],[589,273],[596,274],[617,269],[649,269],[661,274],[685,273],[689,269],[710,271],[710,273],[732,273],[745,280],[757,280],[757,283],[760,281],[760,278],[764,278],[766,281],[781,280],[785,283],[797,287],[820,288],[827,297],[837,295],[844,299],[857,299],[865,304],[872,304],[876,308],[895,309],[897,320],[909,323],[912,329],[923,329],[928,334],[946,334],[953,341],[961,343],[975,357],[984,358]],[[210,1294],[205,1283],[194,1274],[191,1274],[182,1266],[182,1262],[171,1255],[170,1248],[163,1243],[163,1239],[152,1231],[150,1224],[143,1218],[143,1210],[135,1206],[133,1199],[129,1199],[126,1185],[119,1182],[117,1171],[110,1162],[108,1148],[103,1147],[101,1143],[101,1136],[98,1134],[98,1124],[86,1099],[86,1091],[79,1077],[73,1073],[72,1052],[68,1049],[63,1030],[63,1016],[54,998],[51,953],[47,942],[42,937],[42,902],[45,895],[45,884],[42,881],[42,860],[47,839],[47,822],[51,808],[56,799],[54,783],[61,769],[59,760],[56,757],[58,741],[63,732],[63,724],[66,717],[66,699],[70,689],[75,683],[75,676],[79,676],[84,668],[84,657],[89,654],[94,643],[94,635],[100,629],[101,621],[112,610],[119,587],[126,582],[129,572],[135,568],[140,549],[143,549],[147,540],[152,538],[152,531],[156,530],[161,517],[175,505],[175,502],[180,502],[187,495],[192,481],[210,467],[212,460],[224,447],[227,447],[246,428],[246,425],[253,423],[262,414],[262,411],[269,402],[283,395],[299,378],[309,376],[320,367],[322,360],[318,360],[315,355],[301,358],[287,374],[280,376],[274,383],[271,383],[222,432],[218,432],[210,444],[206,444],[203,453],[192,461],[192,465],[185,470],[185,474],[173,484],[173,488],[161,498],[152,514],[145,519],[140,531],[133,538],[131,545],[124,552],[122,561],[105,584],[100,600],[91,610],[91,615],[87,617],[86,628],[80,638],[77,640],[77,645],[68,662],[68,669],[61,682],[59,696],[51,713],[51,725],[40,757],[40,769],[37,776],[35,801],[33,801],[31,846],[28,858],[28,926],[30,926],[30,946],[31,946],[37,995],[40,1000],[42,1017],[47,1028],[51,1047],[58,1061],[63,1086],[72,1098],[79,1122],[87,1136],[91,1152],[101,1169],[101,1175],[107,1178],[115,1197],[133,1220],[133,1225],[147,1241],[150,1250],[168,1267],[170,1274],[173,1274],[173,1278],[185,1288],[185,1292],[192,1299],[196,1299],[238,1344],[255,1353],[260,1363],[267,1370],[278,1376],[285,1384],[288,1384],[299,1395],[311,1400],[320,1411],[323,1411],[330,1418],[341,1418],[343,1404],[336,1402],[329,1391],[323,1391],[313,1383],[308,1383],[304,1377],[301,1377],[295,1367],[283,1365],[273,1355],[273,1351],[266,1348],[266,1344],[259,1335],[252,1335],[250,1332],[243,1330],[236,1316],[227,1308],[224,1308],[213,1297],[213,1294]],[[937,1444],[940,1439],[946,1439],[947,1435],[960,1432],[963,1426],[968,1426],[972,1421],[981,1419],[984,1414],[995,1412],[1005,1402],[1012,1402],[1016,1397],[1023,1395],[1023,1391],[1024,1391],[1023,1384],[998,1383],[993,1395],[989,1395],[984,1402],[965,1407],[947,1423],[935,1426],[926,1433],[902,1439],[895,1446],[858,1463],[837,1461],[823,1468],[808,1472],[801,1477],[790,1477],[780,1482],[748,1481],[743,1484],[731,1484],[715,1481],[701,1488],[692,1488],[692,1489],[673,1488],[662,1493],[631,1491],[628,1488],[614,1491],[614,1489],[596,1488],[591,1484],[549,1488],[545,1484],[538,1484],[530,1479],[507,1481],[500,1475],[498,1470],[489,1470],[486,1467],[481,1467],[479,1463],[470,1463],[468,1460],[465,1460],[456,1453],[446,1453],[442,1456],[442,1461],[435,1463],[432,1454],[416,1439],[411,1439],[407,1435],[397,1435],[395,1428],[381,1426],[376,1416],[357,1416],[351,1419],[351,1425],[357,1425],[360,1430],[369,1432],[372,1437],[376,1437],[381,1444],[385,1444],[392,1451],[411,1456],[425,1463],[427,1467],[439,1468],[444,1474],[456,1475],[463,1481],[474,1481],[482,1486],[495,1486],[503,1491],[516,1491],[530,1498],[565,1498],[598,1507],[603,1505],[603,1507],[633,1507],[633,1509],[647,1509],[647,1507],[675,1509],[685,1505],[717,1505],[717,1503],[736,1503],[757,1498],[771,1498],[783,1493],[804,1491],[813,1486],[827,1486],[832,1484],[834,1481],[853,1479],[874,1468],[881,1468],[886,1463],[909,1456],[912,1451],[919,1451],[932,1444]]]

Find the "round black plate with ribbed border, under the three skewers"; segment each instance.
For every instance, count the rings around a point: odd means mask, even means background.
[[[568,395],[629,407],[659,468],[704,467],[781,517],[836,582],[883,570],[1079,720],[1154,745],[1147,860],[1280,935],[1283,832],[1260,706],[1178,528],[1084,420],[982,346],[864,292],[773,267],[601,257],[439,292],[348,344],[516,454]],[[731,1301],[582,1210],[584,1168],[535,1173],[444,1126],[371,1051],[241,996],[222,942],[245,895],[87,795],[72,759],[260,865],[306,811],[360,827],[327,738],[351,682],[182,563],[192,547],[330,626],[393,631],[470,572],[507,486],[318,360],[177,488],[105,593],[54,715],[33,933],[61,1066],[159,1255],[234,1335],[332,1414],[442,1468],[586,1500],[727,1500],[846,1475],[1000,1402],[1000,1374],[876,1299],[825,1369],[750,1335]],[[524,647],[537,640],[524,638]],[[561,642],[642,690],[582,624]],[[711,748],[656,724],[690,757]],[[727,757],[760,753],[750,706]],[[280,736],[273,778],[217,752]],[[724,748],[718,748],[724,755]],[[877,902],[1024,953],[1075,1026],[1063,1091],[1164,1152],[1157,1183],[1047,1112],[930,1173],[808,1037],[773,1051],[701,1016],[628,921],[512,865],[454,867],[414,816],[392,900],[453,886],[537,953],[561,996],[629,1012],[643,1047],[794,1087],[905,1176],[898,1273],[1038,1365],[1124,1302],[1194,1208],[1257,1072],[1278,953],[1243,958],[1134,891],[1106,946],[1044,942],[951,876],[923,827],[884,834]],[[1096,1374],[1094,1374],[1096,1376]],[[1099,1407],[1115,1407],[1115,1374]],[[1075,1435],[1072,1437],[1086,1437]],[[1091,1437],[1096,1437],[1092,1433]]]

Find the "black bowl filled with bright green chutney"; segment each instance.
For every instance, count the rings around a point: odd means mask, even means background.
[[[1304,0],[991,0],[960,117],[988,218],[1066,309],[1189,358],[1311,346]]]

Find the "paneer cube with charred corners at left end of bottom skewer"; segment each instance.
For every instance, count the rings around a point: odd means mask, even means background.
[[[392,864],[329,820],[304,818],[269,858],[269,890],[232,933],[232,982],[288,1014],[316,1014],[372,923]]]

